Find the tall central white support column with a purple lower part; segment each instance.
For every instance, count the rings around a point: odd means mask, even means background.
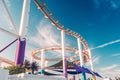
[[[62,46],[62,59],[63,59],[63,73],[64,77],[67,78],[67,63],[65,58],[65,34],[64,30],[61,30],[61,46]]]

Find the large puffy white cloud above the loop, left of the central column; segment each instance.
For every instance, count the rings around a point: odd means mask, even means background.
[[[55,33],[50,24],[43,19],[38,26],[36,35],[31,38],[32,42],[35,42],[41,48],[60,45],[60,35]]]

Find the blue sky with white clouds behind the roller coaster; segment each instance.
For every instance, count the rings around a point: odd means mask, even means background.
[[[23,0],[6,0],[6,2],[14,23],[19,28]],[[120,72],[119,0],[45,0],[45,2],[61,23],[82,35],[87,41],[92,49],[94,66],[97,71]],[[0,10],[2,10],[0,27],[15,33],[5,16],[3,6]],[[0,32],[0,36],[0,44],[2,44],[0,49],[15,39],[3,32]],[[75,38],[66,35],[66,45],[77,48],[76,41]],[[16,45],[17,43],[6,49],[0,56],[14,61]],[[60,45],[60,31],[44,18],[42,12],[31,0],[26,56],[30,57],[31,52],[39,47],[53,45]],[[56,55],[56,52],[51,53]],[[73,53],[67,52],[67,55],[73,55]]]

